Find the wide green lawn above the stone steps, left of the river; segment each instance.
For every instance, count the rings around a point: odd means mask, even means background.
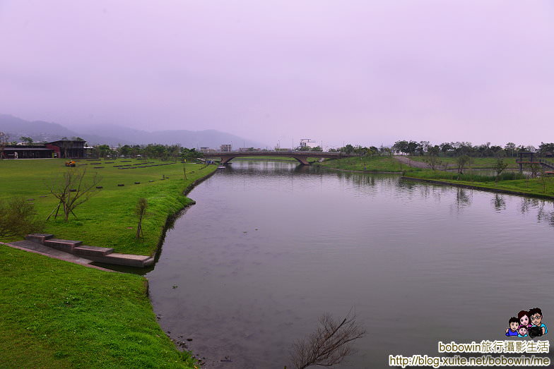
[[[63,217],[55,220],[52,217],[46,222],[45,232],[54,234],[57,238],[83,241],[86,245],[111,247],[117,253],[152,255],[160,242],[167,217],[191,202],[182,194],[183,190],[192,182],[216,170],[215,165],[205,167],[204,164],[180,162],[161,167],[122,170],[113,166],[136,166],[141,161],[134,159],[131,162],[122,162],[122,159],[118,159],[113,164],[106,163],[113,161],[94,161],[102,162],[100,165],[91,165],[94,162],[88,161],[78,162],[87,163],[77,168],[86,168],[87,176],[93,176],[95,172],[102,176],[100,186],[103,188],[88,202],[76,208],[78,218],[71,216],[69,222],[64,222]],[[0,198],[22,196],[25,199],[34,199],[30,202],[34,202],[39,217],[46,219],[58,203],[49,194],[48,184],[56,174],[68,170],[64,162],[64,159],[0,160]],[[155,160],[148,162],[166,163]],[[184,165],[187,169],[187,181],[183,178]],[[164,175],[169,179],[161,181]],[[151,180],[153,182],[149,182]],[[119,183],[125,186],[118,187]],[[148,200],[148,213],[143,219],[144,238],[136,240],[134,209],[141,197]]]

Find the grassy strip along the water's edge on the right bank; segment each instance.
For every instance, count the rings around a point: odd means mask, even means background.
[[[525,179],[519,173],[503,173],[499,181],[494,176],[482,176],[478,174],[459,175],[449,171],[431,171],[430,169],[419,169],[406,171],[404,177],[411,179],[423,179],[430,181],[441,181],[454,185],[472,186],[485,190],[503,190],[521,195],[533,195],[538,197],[554,198],[554,178]]]

